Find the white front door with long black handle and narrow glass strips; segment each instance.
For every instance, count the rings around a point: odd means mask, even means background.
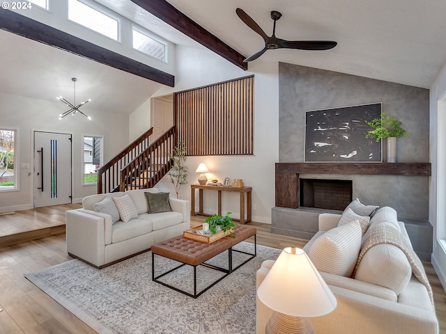
[[[34,132],[34,207],[71,202],[71,134]]]

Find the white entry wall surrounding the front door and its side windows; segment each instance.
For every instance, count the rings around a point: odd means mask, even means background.
[[[82,107],[87,115],[93,116],[91,121],[80,115],[59,120],[59,113],[64,111],[64,106],[57,100],[49,102],[0,93],[0,102],[1,127],[18,128],[20,132],[20,165],[16,165],[20,173],[20,191],[0,193],[0,213],[33,208],[33,130],[72,134],[73,202],[97,193],[96,185],[82,186],[82,136],[104,136],[105,161],[128,145],[128,116],[95,110],[93,102]],[[31,164],[31,169],[22,170],[21,164]],[[31,175],[28,175],[29,172]]]

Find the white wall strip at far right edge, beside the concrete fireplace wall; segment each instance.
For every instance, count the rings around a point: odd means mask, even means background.
[[[430,90],[429,221],[433,223],[431,262],[446,292],[446,64]],[[442,101],[440,101],[442,100]]]

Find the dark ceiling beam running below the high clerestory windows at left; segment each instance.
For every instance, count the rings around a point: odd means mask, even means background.
[[[92,61],[112,66],[118,70],[123,70],[166,86],[174,87],[175,85],[175,77],[169,73],[139,63],[139,61],[134,61],[132,58],[122,56],[114,51],[98,47],[98,45],[94,45],[91,42],[24,17],[11,10],[0,10],[0,29],[53,47],[59,47],[59,49],[66,50],[72,54],[89,58]]]

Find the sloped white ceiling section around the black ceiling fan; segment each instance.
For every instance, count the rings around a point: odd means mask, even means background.
[[[444,0],[167,0],[226,44],[250,56],[262,38],[235,13],[237,7],[276,37],[336,40],[330,51],[270,50],[263,60],[281,61],[429,88],[446,61]]]

